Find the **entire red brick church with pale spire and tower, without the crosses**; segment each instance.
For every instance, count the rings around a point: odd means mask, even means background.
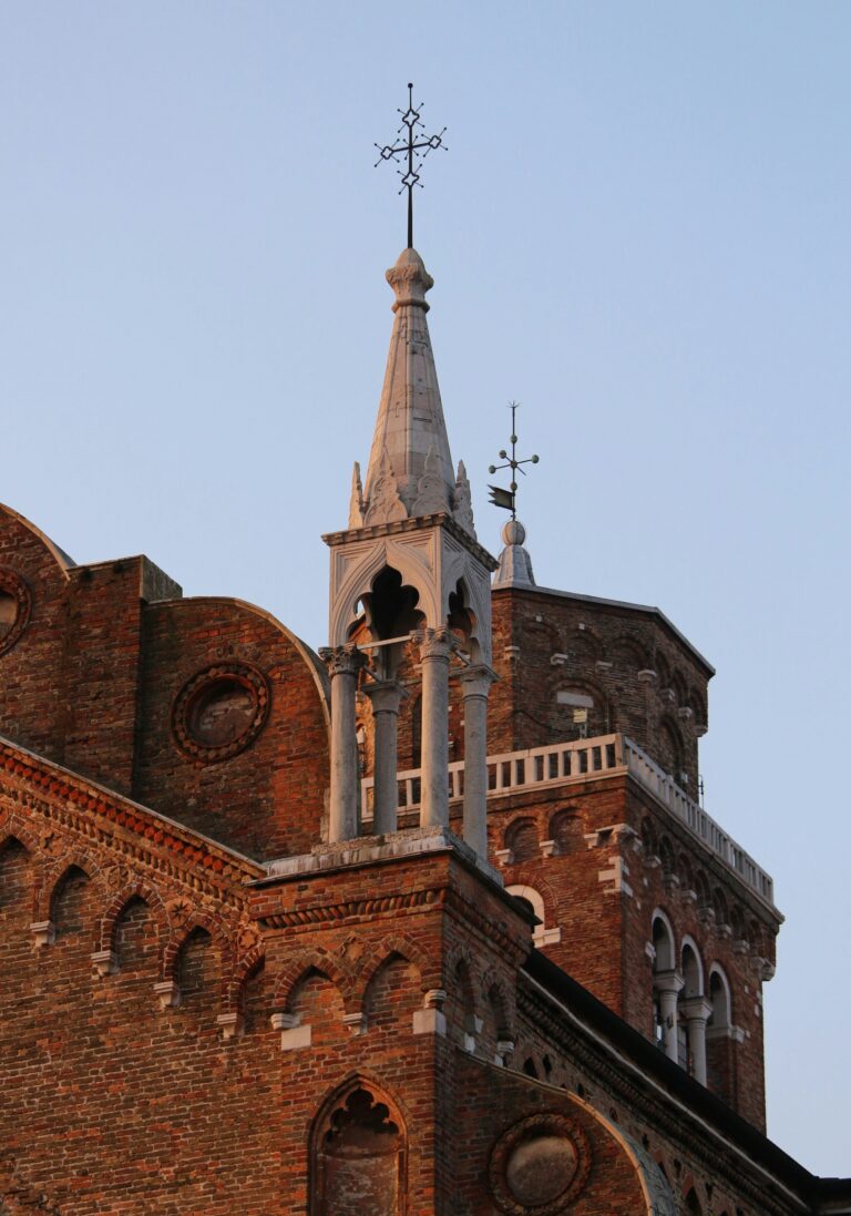
[[[712,668],[494,558],[407,248],[328,646],[0,508],[0,1212],[851,1212],[765,1136]]]

